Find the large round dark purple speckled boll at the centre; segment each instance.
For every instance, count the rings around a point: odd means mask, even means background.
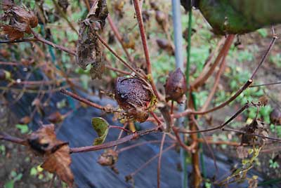
[[[118,77],[115,81],[115,99],[126,117],[144,122],[149,110],[155,107],[155,95],[148,82],[138,77]]]

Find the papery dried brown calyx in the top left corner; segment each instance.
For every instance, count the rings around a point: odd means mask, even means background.
[[[15,6],[12,1],[4,1],[3,10],[5,12],[0,16],[1,21],[8,24],[1,24],[0,27],[11,41],[22,38],[25,33],[31,34],[31,28],[38,25],[35,14],[25,6]]]

